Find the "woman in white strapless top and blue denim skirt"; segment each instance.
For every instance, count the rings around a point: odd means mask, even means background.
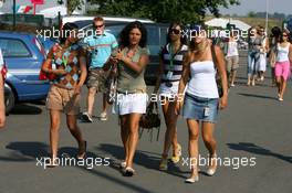
[[[191,175],[186,180],[188,183],[198,181],[198,168],[196,161],[198,161],[199,154],[198,138],[200,121],[202,122],[202,139],[211,160],[207,173],[212,175],[217,169],[216,159],[213,159],[217,157],[213,128],[215,122],[217,121],[218,107],[225,108],[228,98],[228,82],[223,54],[220,47],[211,45],[211,41],[207,39],[205,34],[206,31],[201,26],[192,29],[191,35],[195,36],[195,39],[191,40],[189,51],[184,58],[184,69],[179,82],[176,105],[176,114],[179,114],[179,110],[182,107],[180,96],[184,96],[184,90],[188,83],[182,110],[182,116],[187,119],[189,129],[189,157],[192,165]],[[216,60],[215,63],[213,57]],[[220,99],[215,77],[215,64],[221,76],[223,89]]]

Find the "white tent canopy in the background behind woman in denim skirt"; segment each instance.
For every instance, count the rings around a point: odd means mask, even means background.
[[[251,26],[240,20],[232,20],[232,19],[222,19],[222,18],[215,18],[212,20],[209,20],[207,22],[205,22],[205,24],[209,25],[209,26],[218,26],[218,28],[226,28],[227,24],[234,24],[236,28],[238,28],[239,30],[243,30],[243,31],[248,31]]]

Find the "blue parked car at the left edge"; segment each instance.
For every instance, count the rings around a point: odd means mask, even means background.
[[[42,100],[49,92],[49,82],[40,81],[40,68],[45,50],[36,35],[0,31],[0,47],[8,67],[6,104],[9,112],[17,101]]]

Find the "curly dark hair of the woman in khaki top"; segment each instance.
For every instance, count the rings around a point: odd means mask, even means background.
[[[122,47],[126,47],[129,45],[129,32],[133,30],[133,29],[139,29],[140,31],[140,41],[139,41],[139,46],[140,47],[145,47],[146,44],[147,44],[147,30],[146,28],[142,24],[142,22],[139,21],[134,21],[134,22],[131,22],[128,23],[121,32],[119,34],[119,46]]]

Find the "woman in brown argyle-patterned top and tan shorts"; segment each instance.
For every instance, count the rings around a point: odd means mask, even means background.
[[[77,158],[84,159],[86,152],[86,141],[83,140],[76,121],[80,112],[81,87],[87,75],[86,57],[83,49],[76,44],[79,40],[77,26],[74,23],[66,23],[62,31],[60,45],[54,45],[50,50],[42,65],[44,73],[55,76],[46,98],[46,108],[51,121],[51,167],[58,165],[58,142],[62,111],[66,115],[66,125],[71,135],[79,143]]]

